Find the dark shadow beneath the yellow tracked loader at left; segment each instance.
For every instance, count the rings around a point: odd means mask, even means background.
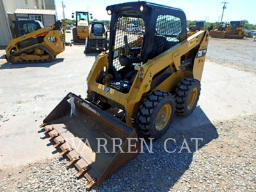
[[[61,63],[64,61],[64,58],[57,58],[54,61],[49,63],[24,63],[24,64],[10,64],[4,63],[0,65],[0,69],[8,69],[8,68],[26,68],[26,67],[51,67],[52,65],[56,65],[57,63]]]

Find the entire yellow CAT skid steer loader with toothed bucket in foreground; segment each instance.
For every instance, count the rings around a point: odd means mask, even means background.
[[[86,99],[68,93],[40,126],[87,188],[138,156],[138,138],[160,138],[175,113],[192,113],[209,42],[207,30],[188,37],[178,8],[140,1],[106,10],[109,50],[88,74]],[[130,25],[138,30],[129,33]]]

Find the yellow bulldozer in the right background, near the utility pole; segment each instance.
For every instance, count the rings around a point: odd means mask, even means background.
[[[210,36],[213,38],[236,38],[242,39],[246,35],[242,21],[230,21],[230,23],[212,26]]]

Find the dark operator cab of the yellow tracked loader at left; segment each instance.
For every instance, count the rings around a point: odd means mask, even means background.
[[[39,20],[13,20],[15,38],[44,28]]]

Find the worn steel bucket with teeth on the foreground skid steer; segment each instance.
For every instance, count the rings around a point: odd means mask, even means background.
[[[67,164],[76,166],[76,176],[86,177],[86,188],[99,186],[140,152],[135,129],[73,93],[68,93],[40,127],[56,143],[54,147],[61,149],[61,155],[70,159]],[[105,142],[104,147],[99,146]]]

